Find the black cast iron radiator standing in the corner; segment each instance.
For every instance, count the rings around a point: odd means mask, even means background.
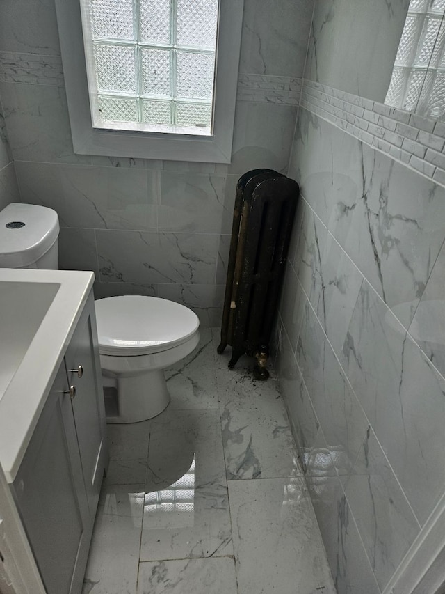
[[[268,345],[298,200],[297,182],[272,169],[238,180],[218,353],[232,346],[229,368],[256,357],[254,377],[267,380]]]

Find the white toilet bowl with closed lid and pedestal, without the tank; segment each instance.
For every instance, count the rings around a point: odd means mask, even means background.
[[[106,399],[113,400],[107,422],[152,419],[170,402],[163,369],[184,359],[200,340],[197,315],[168,299],[142,295],[98,299],[95,309]]]

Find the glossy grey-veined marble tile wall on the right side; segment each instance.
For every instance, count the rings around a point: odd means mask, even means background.
[[[314,15],[276,366],[337,590],[388,594],[445,490],[444,129],[378,103],[355,31],[333,52],[344,4]]]

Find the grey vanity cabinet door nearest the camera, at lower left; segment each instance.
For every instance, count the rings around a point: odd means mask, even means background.
[[[48,594],[80,593],[92,531],[66,389],[62,364],[13,483]]]

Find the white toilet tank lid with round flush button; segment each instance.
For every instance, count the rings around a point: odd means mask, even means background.
[[[58,232],[55,210],[35,204],[8,204],[0,212],[0,267],[33,264],[54,244]]]

